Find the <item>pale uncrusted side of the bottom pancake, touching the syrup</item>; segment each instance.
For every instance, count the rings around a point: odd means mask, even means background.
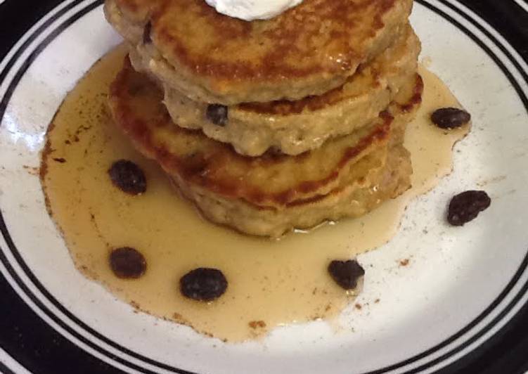
[[[408,151],[401,144],[386,151],[378,150],[363,157],[357,165],[362,173],[358,172],[346,186],[325,196],[276,209],[224,198],[186,183],[179,176],[172,176],[172,180],[206,219],[240,233],[278,238],[293,229],[310,229],[325,221],[361,217],[411,188],[413,169]]]

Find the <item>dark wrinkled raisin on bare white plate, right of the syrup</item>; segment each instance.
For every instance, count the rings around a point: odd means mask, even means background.
[[[451,199],[447,221],[453,226],[464,226],[477,218],[489,205],[491,199],[484,191],[465,191]]]

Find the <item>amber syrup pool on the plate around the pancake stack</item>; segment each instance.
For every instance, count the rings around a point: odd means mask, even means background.
[[[136,309],[231,342],[261,337],[278,325],[337,316],[355,295],[334,283],[328,263],[387,243],[409,200],[451,172],[453,145],[469,130],[469,125],[444,131],[431,124],[432,111],[460,104],[420,67],[423,103],[405,140],[413,162],[411,190],[365,217],[309,233],[281,240],[243,236],[202,219],[160,167],[112,124],[108,89],[125,54],[120,46],[99,60],[67,94],[49,127],[41,165],[49,212],[84,276]],[[112,185],[108,169],[122,159],[145,172],[143,195]],[[117,247],[134,247],[145,256],[144,276],[124,280],[112,273],[108,256]],[[180,294],[179,279],[197,267],[221,269],[228,280],[222,297],[204,303]],[[367,269],[367,277],[369,271],[376,269]]]

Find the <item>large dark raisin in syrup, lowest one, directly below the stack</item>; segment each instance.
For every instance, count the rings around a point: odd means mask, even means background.
[[[180,291],[183,296],[202,302],[217,299],[224,295],[226,289],[226,277],[218,269],[194,269],[180,279]]]

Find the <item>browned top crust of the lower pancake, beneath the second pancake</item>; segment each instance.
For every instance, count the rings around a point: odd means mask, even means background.
[[[421,79],[417,77],[411,86],[416,93],[408,93],[405,103],[413,106],[420,101]],[[225,198],[259,206],[292,205],[340,187],[362,155],[387,146],[393,120],[383,112],[371,127],[302,155],[246,157],[200,131],[175,126],[160,89],[132,69],[128,60],[112,84],[110,108],[117,126],[167,173]]]

